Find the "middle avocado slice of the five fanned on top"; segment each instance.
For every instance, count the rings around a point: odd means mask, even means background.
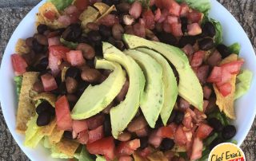
[[[140,108],[151,128],[154,128],[162,110],[164,89],[162,83],[162,66],[154,58],[137,50],[126,50],[124,53],[132,57],[146,77],[146,87],[140,100]],[[154,98],[154,99],[153,99]]]

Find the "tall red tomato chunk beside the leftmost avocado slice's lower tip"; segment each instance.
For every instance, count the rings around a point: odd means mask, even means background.
[[[72,130],[72,120],[70,116],[70,105],[66,96],[61,96],[55,102],[55,112],[57,118],[57,126],[60,130]]]

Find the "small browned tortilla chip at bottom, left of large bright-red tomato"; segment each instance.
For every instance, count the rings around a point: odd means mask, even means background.
[[[65,155],[74,156],[74,152],[79,147],[80,143],[70,139],[62,139],[55,144],[56,151]]]

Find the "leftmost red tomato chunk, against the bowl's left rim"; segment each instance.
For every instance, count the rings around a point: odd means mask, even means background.
[[[10,57],[15,75],[21,76],[23,73],[26,73],[26,67],[28,67],[28,65],[26,64],[25,59],[17,53],[12,54]]]

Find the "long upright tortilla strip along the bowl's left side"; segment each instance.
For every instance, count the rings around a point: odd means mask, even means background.
[[[26,132],[26,123],[30,120],[31,116],[35,114],[34,103],[30,99],[30,89],[33,88],[33,84],[38,81],[38,74],[39,73],[36,72],[23,74],[16,116],[16,131],[22,134]]]

